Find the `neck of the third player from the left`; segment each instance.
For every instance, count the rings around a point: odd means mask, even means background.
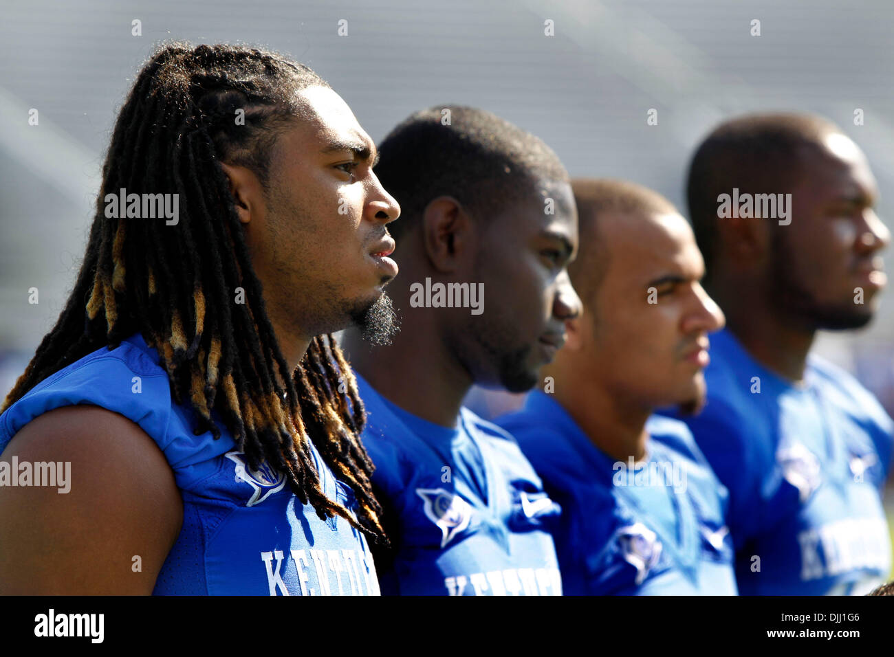
[[[554,375],[555,381],[568,384],[557,387],[555,400],[568,411],[578,426],[597,448],[612,459],[627,461],[645,459],[645,443],[649,435],[645,421],[652,409],[641,402],[628,400],[600,387],[595,377]],[[561,378],[560,378],[561,377]]]

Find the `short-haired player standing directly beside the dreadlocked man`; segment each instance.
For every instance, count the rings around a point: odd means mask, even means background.
[[[367,350],[355,332],[345,344],[394,546],[376,560],[382,591],[561,594],[546,532],[558,506],[513,438],[462,400],[473,383],[531,388],[578,315],[568,173],[543,141],[471,107],[413,114],[379,150],[408,208],[394,236],[410,272],[395,293],[403,329],[390,346]]]

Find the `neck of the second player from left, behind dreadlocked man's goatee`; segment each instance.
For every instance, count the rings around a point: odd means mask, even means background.
[[[342,347],[350,365],[386,400],[436,425],[453,427],[472,377],[441,339],[432,320],[437,310],[410,308],[405,299],[394,299],[394,306],[403,322],[392,344],[373,347],[357,330],[344,333]]]

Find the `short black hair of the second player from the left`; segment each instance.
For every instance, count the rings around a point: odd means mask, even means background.
[[[530,193],[538,180],[569,181],[541,139],[475,107],[435,105],[410,114],[378,150],[375,174],[401,204],[401,218],[388,226],[395,240],[439,196],[486,215]]]

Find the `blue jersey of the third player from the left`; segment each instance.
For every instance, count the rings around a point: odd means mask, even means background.
[[[617,462],[561,405],[531,392],[497,420],[561,504],[567,595],[735,595],[727,493],[681,422],[650,417],[647,459]]]

